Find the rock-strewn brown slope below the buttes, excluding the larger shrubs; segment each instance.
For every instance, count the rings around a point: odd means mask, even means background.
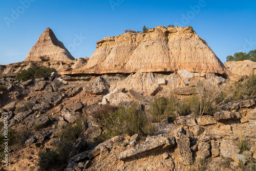
[[[194,77],[181,71],[87,77],[53,73],[46,80],[21,82],[2,78],[0,84],[6,90],[1,92],[0,121],[8,112],[9,131],[17,133],[9,144],[7,170],[37,170],[39,150],[52,148],[58,132],[81,117],[87,122],[82,122],[82,133],[73,144],[65,170],[240,170],[241,161],[246,163],[245,169],[253,170],[255,99],[222,105],[213,116],[177,116],[174,122],[166,119],[154,123],[154,134],[144,138],[135,134],[116,136],[100,144],[95,141],[103,130],[91,112],[106,103],[129,106],[135,102],[147,110],[150,101],[170,93],[174,85],[177,95],[191,94]],[[215,86],[226,82],[212,74],[198,77],[210,79]],[[134,81],[137,79],[144,81],[143,90]],[[248,143],[243,153],[242,140]]]

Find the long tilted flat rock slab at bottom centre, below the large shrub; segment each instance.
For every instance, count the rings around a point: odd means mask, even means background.
[[[120,154],[118,154],[117,158],[119,160],[126,160],[132,157],[138,157],[141,155],[152,153],[154,151],[159,151],[161,149],[170,148],[174,145],[174,137],[158,136],[154,139],[138,144],[133,148],[127,149],[124,152],[121,152]]]

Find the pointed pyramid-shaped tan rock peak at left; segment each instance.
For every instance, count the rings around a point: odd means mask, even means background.
[[[48,27],[42,33],[35,45],[30,49],[26,60],[74,60],[61,41],[57,39],[53,31]]]

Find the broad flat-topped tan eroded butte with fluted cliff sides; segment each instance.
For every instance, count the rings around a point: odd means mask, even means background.
[[[65,74],[135,72],[225,72],[225,66],[191,27],[158,26],[97,41],[87,65]]]

